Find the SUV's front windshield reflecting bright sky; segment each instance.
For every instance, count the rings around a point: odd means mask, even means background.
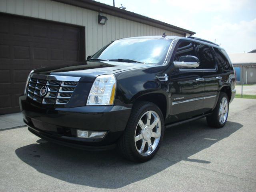
[[[163,64],[171,42],[161,38],[120,39],[105,46],[90,59]]]

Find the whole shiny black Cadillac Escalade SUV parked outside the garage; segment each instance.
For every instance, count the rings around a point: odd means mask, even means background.
[[[165,128],[206,117],[221,128],[235,96],[234,68],[199,38],[146,36],[111,42],[86,62],[30,72],[20,109],[28,130],[65,146],[117,146],[144,162]]]

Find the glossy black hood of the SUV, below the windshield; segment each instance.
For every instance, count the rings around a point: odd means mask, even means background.
[[[97,76],[102,74],[114,74],[151,66],[154,65],[113,61],[79,62],[62,66],[39,68],[34,70],[33,74],[81,77],[80,81],[93,82]]]

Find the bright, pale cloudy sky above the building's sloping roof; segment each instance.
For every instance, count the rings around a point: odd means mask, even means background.
[[[113,0],[97,0],[113,5]],[[256,49],[256,0],[115,0],[116,7],[196,32],[228,53]],[[160,34],[161,35],[161,34]]]

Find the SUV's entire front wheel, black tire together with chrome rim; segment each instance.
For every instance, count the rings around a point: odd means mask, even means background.
[[[163,136],[164,118],[158,106],[151,102],[135,103],[117,148],[128,160],[146,162],[158,151]]]

